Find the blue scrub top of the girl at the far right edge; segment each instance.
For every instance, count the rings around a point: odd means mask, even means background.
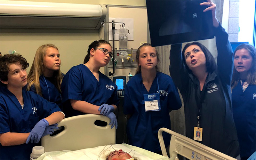
[[[256,151],[256,85],[243,92],[240,81],[232,90],[233,117],[239,140],[241,159]]]

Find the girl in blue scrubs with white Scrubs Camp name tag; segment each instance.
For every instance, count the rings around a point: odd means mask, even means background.
[[[124,93],[124,114],[127,137],[133,146],[162,154],[157,132],[171,129],[169,112],[181,107],[181,100],[172,78],[158,72],[158,53],[151,44],[142,44],[136,52],[138,69],[128,81]],[[164,134],[165,145],[170,135]]]

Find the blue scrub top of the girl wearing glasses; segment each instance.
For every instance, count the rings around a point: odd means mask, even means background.
[[[66,117],[84,115],[74,110],[69,100],[82,100],[100,106],[104,103],[118,106],[117,86],[99,71],[99,82],[84,64],[72,67],[61,84],[62,106]]]

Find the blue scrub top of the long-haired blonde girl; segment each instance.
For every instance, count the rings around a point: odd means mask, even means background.
[[[42,91],[42,97],[49,102],[56,103],[60,108],[61,107],[61,94],[52,82],[50,82],[43,75],[39,77],[40,87]],[[30,91],[35,92],[35,87],[31,86]]]

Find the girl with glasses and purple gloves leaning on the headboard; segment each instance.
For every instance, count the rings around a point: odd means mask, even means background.
[[[99,69],[112,57],[112,46],[105,40],[89,45],[84,64],[72,67],[64,76],[61,91],[63,112],[67,117],[83,114],[101,114],[116,125],[113,113],[119,104],[117,86]]]

